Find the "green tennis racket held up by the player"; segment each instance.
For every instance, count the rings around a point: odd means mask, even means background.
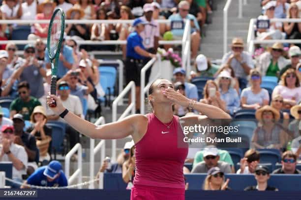
[[[48,29],[47,35],[47,51],[51,62],[51,86],[50,94],[56,95],[57,93],[57,69],[60,57],[60,48],[64,37],[65,29],[65,13],[63,9],[55,9]],[[54,102],[50,105],[56,107],[57,103]]]

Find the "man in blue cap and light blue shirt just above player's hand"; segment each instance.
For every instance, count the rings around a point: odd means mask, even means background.
[[[173,75],[176,82],[180,81],[185,85],[185,95],[188,99],[199,100],[198,89],[196,85],[185,81],[186,71],[183,68],[176,68],[173,72]]]

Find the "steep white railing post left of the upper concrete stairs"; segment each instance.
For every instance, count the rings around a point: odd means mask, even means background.
[[[182,68],[186,70],[186,75],[190,75],[190,21],[185,23],[183,38],[182,38]]]

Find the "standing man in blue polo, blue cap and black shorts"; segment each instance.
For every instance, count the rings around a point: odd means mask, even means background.
[[[148,22],[137,18],[133,21],[132,26],[135,31],[129,34],[126,43],[126,60],[125,60],[125,79],[126,84],[134,81],[136,85],[136,112],[140,112],[140,73],[147,58],[155,58],[156,55],[146,51],[143,45],[143,39],[140,34],[144,31]],[[150,73],[146,74],[146,84],[149,82]],[[130,99],[130,101],[132,101]],[[129,102],[130,103],[130,102]]]

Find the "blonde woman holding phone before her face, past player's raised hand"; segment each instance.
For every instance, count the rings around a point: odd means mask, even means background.
[[[204,87],[204,99],[201,99],[200,102],[214,105],[223,111],[227,110],[226,103],[221,100],[218,86],[213,80],[208,80],[206,82]]]

